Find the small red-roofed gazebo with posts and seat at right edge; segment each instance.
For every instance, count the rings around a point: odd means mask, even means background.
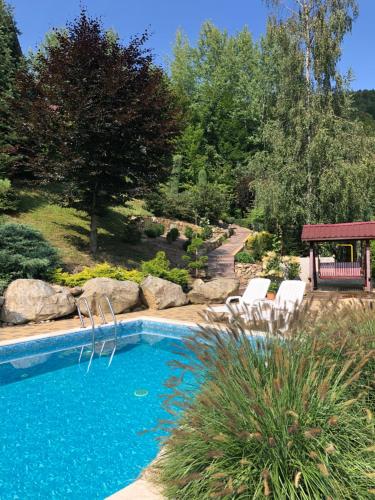
[[[318,288],[320,280],[363,280],[371,292],[370,240],[375,240],[374,222],[308,224],[303,226],[302,241],[310,245],[309,280]],[[333,262],[320,262],[318,244],[336,243],[340,250]]]

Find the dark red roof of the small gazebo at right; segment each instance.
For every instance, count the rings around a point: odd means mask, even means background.
[[[343,224],[307,224],[302,241],[375,240],[375,221]]]

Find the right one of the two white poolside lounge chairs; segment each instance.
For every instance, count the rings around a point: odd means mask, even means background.
[[[280,285],[275,300],[257,300],[241,314],[247,320],[268,322],[270,330],[278,319],[283,319],[282,330],[286,330],[292,314],[301,306],[305,294],[304,281],[286,280]]]

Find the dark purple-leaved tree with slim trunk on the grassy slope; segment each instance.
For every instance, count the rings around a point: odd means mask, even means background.
[[[82,11],[18,77],[20,166],[89,215],[93,254],[103,210],[170,173],[179,111],[146,40],[124,46]]]

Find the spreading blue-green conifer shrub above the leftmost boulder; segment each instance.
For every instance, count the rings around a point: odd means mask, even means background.
[[[4,289],[18,278],[48,279],[59,265],[57,251],[35,229],[0,225],[0,282]]]

